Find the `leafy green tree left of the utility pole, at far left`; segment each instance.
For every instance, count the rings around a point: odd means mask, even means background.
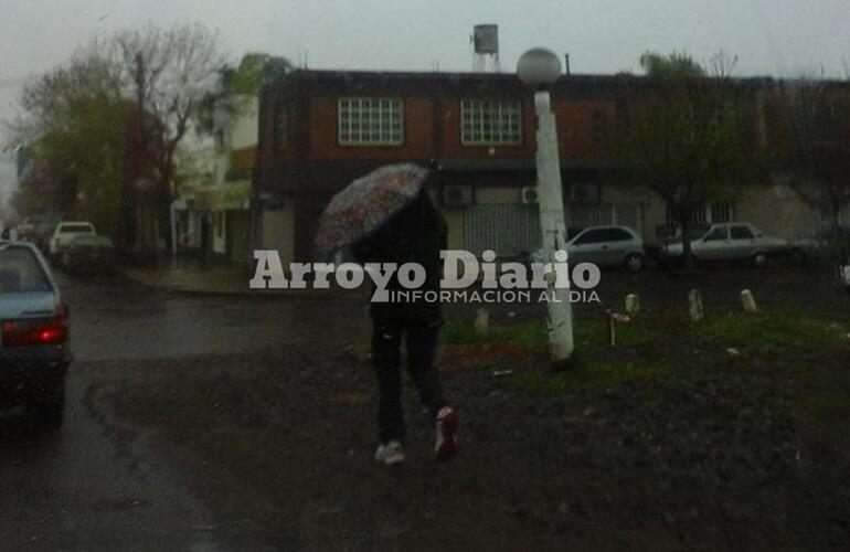
[[[17,200],[30,211],[67,208],[115,235],[125,180],[126,128],[131,105],[121,97],[120,77],[92,47],[62,67],[29,82],[20,98],[23,115],[12,125],[38,167]],[[55,174],[63,185],[41,185]],[[79,199],[67,203],[71,194]],[[78,194],[78,195],[77,195]],[[71,214],[71,213],[68,213]]]

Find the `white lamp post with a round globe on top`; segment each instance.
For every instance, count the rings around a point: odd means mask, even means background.
[[[540,229],[543,236],[543,254],[549,262],[566,261],[566,225],[564,200],[561,189],[561,159],[557,151],[555,115],[552,113],[549,92],[544,85],[554,83],[561,75],[561,60],[549,50],[529,50],[517,63],[520,79],[536,88],[534,108],[538,114],[538,200]],[[549,301],[549,342],[554,367],[570,361],[573,353],[573,309],[570,290],[555,287],[554,275],[546,276]]]

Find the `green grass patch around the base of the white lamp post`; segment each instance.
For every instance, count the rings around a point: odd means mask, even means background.
[[[775,359],[759,361],[757,349],[750,346],[771,346],[788,352],[817,348],[838,351],[850,344],[849,331],[850,326],[846,322],[819,320],[794,311],[736,312],[711,317],[694,326],[686,321],[681,328],[676,320],[671,322],[669,316],[647,316],[618,325],[617,347],[610,348],[602,317],[585,318],[575,321],[578,362],[571,369],[554,373],[541,367],[539,371],[518,371],[503,381],[519,391],[539,395],[599,392],[647,379],[659,383],[659,391],[688,390],[699,385],[703,378],[732,365],[739,368],[731,374],[742,369],[750,372],[742,363],[751,365],[755,362],[751,368],[763,368],[769,362],[773,371],[800,370],[797,361],[787,367]],[[471,325],[455,322],[445,336],[449,343],[513,341],[535,352],[544,352],[548,348],[546,326],[540,320],[493,327],[487,337],[476,335]],[[726,353],[729,347],[750,351],[756,357],[735,360]],[[809,373],[812,368],[808,365],[805,370],[807,380],[817,378]],[[761,376],[757,374],[758,370],[755,370],[750,375]]]

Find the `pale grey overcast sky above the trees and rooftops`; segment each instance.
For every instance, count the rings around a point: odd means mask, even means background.
[[[839,76],[850,60],[850,0],[0,0],[0,119],[23,78],[92,36],[189,21],[219,29],[234,60],[263,51],[312,68],[469,71],[476,23],[499,25],[503,71],[535,45],[570,52],[575,73],[636,70],[646,50],[724,50],[740,75]]]

